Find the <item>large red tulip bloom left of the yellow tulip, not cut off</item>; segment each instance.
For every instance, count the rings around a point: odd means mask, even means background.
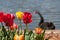
[[[15,19],[15,16],[13,14],[4,14],[3,21],[6,26],[13,25],[13,20]]]

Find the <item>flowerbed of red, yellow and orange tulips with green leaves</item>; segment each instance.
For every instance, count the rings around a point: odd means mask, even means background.
[[[15,16],[10,13],[0,12],[0,40],[44,40],[45,29],[34,28],[28,29],[28,24],[32,22],[32,15],[29,12],[16,12],[16,17],[20,22],[19,25],[14,23]],[[21,21],[25,24],[25,29],[22,32]],[[48,40],[48,39],[47,39]]]

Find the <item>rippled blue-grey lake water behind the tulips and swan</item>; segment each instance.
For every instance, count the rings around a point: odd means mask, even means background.
[[[47,22],[53,22],[56,29],[60,29],[60,0],[0,0],[0,11],[13,13],[16,11],[28,11],[33,13],[39,10]],[[33,22],[29,24],[29,29],[38,26],[40,20],[37,14],[33,15]],[[34,20],[35,19],[35,20]],[[18,20],[15,20],[19,24]],[[22,22],[23,28],[25,24]]]

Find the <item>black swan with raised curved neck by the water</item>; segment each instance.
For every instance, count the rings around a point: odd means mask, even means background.
[[[39,27],[41,27],[42,29],[46,29],[46,30],[47,29],[48,30],[54,30],[55,29],[55,25],[52,22],[44,22],[44,18],[39,11],[35,11],[35,13],[40,16],[40,22],[38,24]]]

